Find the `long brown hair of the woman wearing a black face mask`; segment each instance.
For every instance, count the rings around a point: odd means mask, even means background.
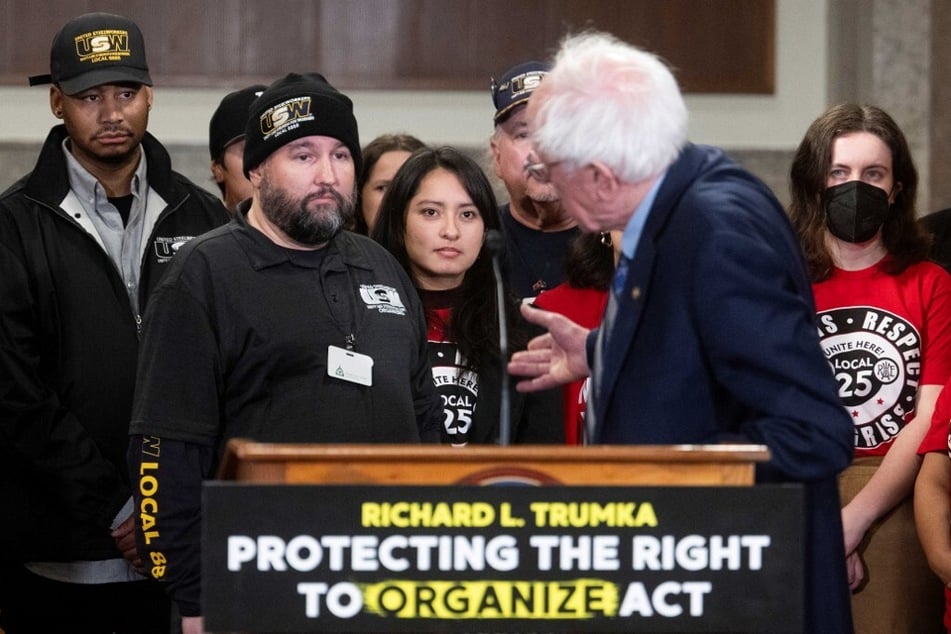
[[[832,275],[832,256],[826,246],[826,216],[822,192],[832,165],[832,146],[843,134],[869,132],[888,146],[898,191],[882,227],[885,249],[891,255],[886,271],[897,275],[928,257],[930,239],[915,219],[918,170],[898,124],[881,108],[840,104],[812,122],[796,150],[789,172],[789,217],[799,233],[809,275],[821,282]]]

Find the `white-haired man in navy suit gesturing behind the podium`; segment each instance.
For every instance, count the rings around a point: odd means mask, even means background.
[[[519,389],[590,374],[597,443],[768,446],[758,481],[805,488],[804,629],[852,631],[836,490],[852,424],[782,207],[721,150],[687,142],[670,70],[609,35],[568,38],[528,110],[525,169],[583,229],[623,238],[600,328],[523,306],[549,333],[513,355]]]

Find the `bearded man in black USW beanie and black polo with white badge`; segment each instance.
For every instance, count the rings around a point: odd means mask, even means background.
[[[350,99],[316,74],[271,84],[245,130],[251,200],[176,256],[145,316],[128,458],[136,508],[154,513],[139,554],[186,634],[202,625],[200,483],[229,439],[438,442],[417,293],[342,230],[359,164]]]

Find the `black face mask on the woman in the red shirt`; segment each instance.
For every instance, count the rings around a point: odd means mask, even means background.
[[[885,224],[888,194],[881,187],[849,181],[822,192],[829,232],[846,242],[865,242]]]

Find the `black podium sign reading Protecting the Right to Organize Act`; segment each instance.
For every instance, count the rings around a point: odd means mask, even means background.
[[[208,631],[798,632],[801,487],[204,490]]]

